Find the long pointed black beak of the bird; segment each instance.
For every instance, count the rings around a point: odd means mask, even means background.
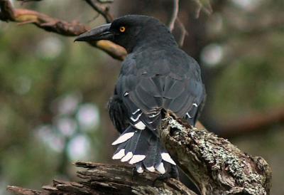
[[[113,38],[113,33],[109,31],[109,28],[111,27],[111,23],[106,23],[102,26],[99,26],[97,28],[93,28],[90,31],[87,31],[86,33],[82,33],[80,36],[78,36],[75,41],[99,41],[99,40],[111,40]]]

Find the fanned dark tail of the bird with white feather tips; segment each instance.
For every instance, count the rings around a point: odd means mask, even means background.
[[[151,130],[138,130],[129,126],[113,144],[118,144],[118,147],[112,159],[135,164],[139,173],[147,169],[164,174],[170,164],[175,165],[168,152],[165,152],[160,139]]]

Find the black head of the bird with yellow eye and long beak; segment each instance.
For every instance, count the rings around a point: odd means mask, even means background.
[[[109,40],[126,48],[131,52],[133,48],[149,41],[175,40],[168,28],[150,16],[127,15],[115,19],[86,33],[82,33],[75,41],[99,41]]]

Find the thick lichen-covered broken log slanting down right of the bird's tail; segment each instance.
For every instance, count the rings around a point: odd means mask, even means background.
[[[170,116],[161,124],[160,137],[202,194],[269,194],[271,169],[262,157]]]

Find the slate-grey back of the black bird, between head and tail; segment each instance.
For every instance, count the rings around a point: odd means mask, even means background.
[[[122,65],[116,88],[121,99],[130,92],[132,102],[144,113],[163,109],[179,117],[186,117],[190,108],[200,105],[204,98],[199,65],[179,48],[131,53]]]

